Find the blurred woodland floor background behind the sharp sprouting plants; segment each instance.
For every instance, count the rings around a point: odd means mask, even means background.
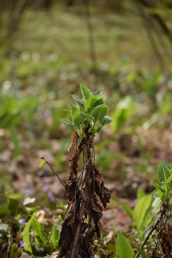
[[[81,83],[104,87],[114,120],[95,137],[95,164],[112,196],[134,206],[160,160],[172,164],[172,2],[1,0],[0,24],[0,194],[21,188],[16,199],[50,210],[67,203],[39,156],[67,182],[73,132],[59,119],[71,119],[63,109]]]

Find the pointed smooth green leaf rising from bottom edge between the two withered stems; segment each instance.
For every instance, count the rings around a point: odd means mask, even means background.
[[[122,233],[118,231],[118,237],[116,241],[116,257],[117,258],[132,258],[134,256],[134,250],[128,240]]]

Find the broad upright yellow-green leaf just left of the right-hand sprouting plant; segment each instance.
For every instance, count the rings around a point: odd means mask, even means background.
[[[149,220],[148,211],[151,210],[153,200],[153,193],[150,193],[143,196],[134,207],[133,222],[138,230],[145,228]]]

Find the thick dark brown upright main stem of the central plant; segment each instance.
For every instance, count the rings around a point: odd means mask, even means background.
[[[81,206],[79,218],[78,218],[78,225],[75,233],[75,238],[73,240],[73,245],[72,245],[72,250],[71,250],[71,255],[70,258],[75,258],[75,251],[77,247],[77,242],[78,242],[78,237],[79,237],[79,232],[81,229],[81,221],[83,220],[83,215],[84,215],[84,210],[85,206],[87,203],[87,197],[88,197],[88,191],[89,191],[89,180],[91,176],[91,154],[90,154],[90,135],[86,133],[86,155],[87,155],[87,167],[86,167],[86,181],[85,181],[85,192],[84,192],[84,200]],[[88,162],[90,159],[90,162]]]

